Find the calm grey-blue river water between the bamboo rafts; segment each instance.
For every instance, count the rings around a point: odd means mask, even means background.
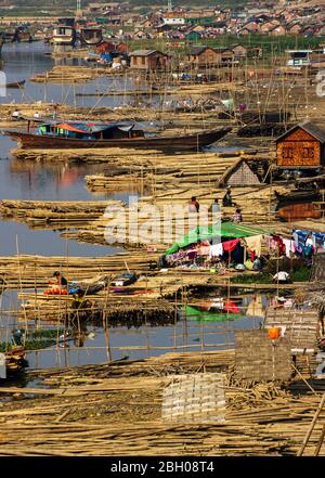
[[[127,80],[100,78],[75,89],[67,85],[48,85],[30,82],[29,78],[38,73],[51,69],[54,65],[52,57],[46,53],[50,48],[42,42],[5,44],[2,53],[2,69],[6,75],[6,81],[13,82],[26,80],[23,89],[8,89],[8,95],[0,98],[2,103],[32,103],[32,102],[58,102],[76,104],[79,106],[108,106],[120,107],[125,104],[123,96],[78,96],[76,93],[104,91],[105,89],[121,90],[130,89],[132,83]],[[80,64],[80,60],[72,60],[70,63]],[[0,135],[0,198],[1,199],[43,199],[43,201],[82,201],[118,198],[126,201],[127,195],[92,195],[84,186],[84,176],[102,172],[107,165],[69,165],[69,164],[36,164],[22,162],[13,158],[10,150],[15,143],[9,138]],[[0,220],[0,255],[21,254],[62,255],[66,256],[67,247],[70,256],[104,256],[113,255],[121,250],[109,246],[91,246],[66,241],[60,237],[56,231],[32,231],[26,225],[13,221]],[[240,299],[244,300],[244,299]],[[239,300],[239,301],[240,301]],[[109,352],[107,348],[107,334],[101,327],[88,326],[82,347],[74,343],[67,343],[66,347],[57,347],[55,350],[29,352],[27,360],[29,367],[63,366],[86,363],[101,363],[108,358],[116,360],[128,356],[138,359],[147,356],[157,356],[166,351],[172,351],[176,347],[184,347],[184,351],[200,350],[216,344],[220,348],[233,347],[234,328],[257,327],[262,318],[259,312],[247,314],[247,308],[256,300],[253,297],[245,299],[244,314],[238,315],[233,322],[205,322],[204,318],[182,318],[174,325],[169,326],[142,326],[116,327],[109,330]],[[266,307],[266,298],[263,298],[263,308]],[[16,295],[4,292],[1,297],[3,310],[12,310],[20,307]],[[0,331],[3,334],[16,327],[14,316],[1,316]],[[203,344],[204,336],[204,344]],[[1,341],[1,340],[0,340]]]

